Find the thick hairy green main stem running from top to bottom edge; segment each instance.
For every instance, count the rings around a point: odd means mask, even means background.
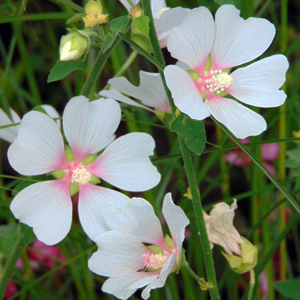
[[[154,23],[153,23],[150,0],[141,0],[141,3],[143,5],[143,10],[144,10],[145,15],[148,16],[150,19],[149,39],[150,39],[151,46],[153,49],[154,57],[160,64],[162,64],[165,67],[164,57],[161,52],[161,48],[160,48],[160,45],[158,42],[158,38],[156,35]],[[170,102],[173,118],[175,119],[176,106],[174,104],[171,92],[170,92],[169,88],[167,87],[166,80],[164,77],[164,72],[162,70],[159,70],[159,72],[161,75],[161,79],[164,83],[164,87],[165,87],[165,90],[167,93],[168,100]],[[201,199],[200,199],[200,194],[199,194],[196,176],[195,176],[195,172],[194,172],[192,158],[191,158],[189,149],[185,145],[184,140],[179,136],[178,136],[178,140],[179,140],[179,145],[180,145],[180,149],[181,149],[181,153],[182,153],[184,167],[186,170],[187,182],[188,182],[190,190],[191,190],[193,209],[194,209],[194,213],[195,213],[195,217],[196,217],[197,227],[198,227],[198,230],[200,233],[199,236],[200,236],[202,251],[203,251],[203,255],[204,255],[207,279],[208,279],[208,282],[212,286],[212,288],[209,289],[210,296],[211,296],[212,300],[219,300],[220,295],[219,295],[219,292],[217,289],[216,274],[214,272],[214,262],[212,259],[210,244],[208,241],[207,231],[206,231],[205,222],[204,222],[204,218],[203,218]]]

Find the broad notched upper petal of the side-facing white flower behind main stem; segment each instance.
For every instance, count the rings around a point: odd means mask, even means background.
[[[108,83],[116,90],[139,99],[143,104],[169,111],[170,104],[159,73],[140,71],[140,85],[131,84],[125,77],[115,77]]]

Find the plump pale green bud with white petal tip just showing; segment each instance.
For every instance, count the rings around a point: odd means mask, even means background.
[[[60,40],[59,57],[61,61],[76,60],[86,54],[89,49],[90,39],[85,32],[77,29],[70,29],[69,32]]]

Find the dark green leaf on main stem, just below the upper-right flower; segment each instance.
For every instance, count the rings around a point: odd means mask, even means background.
[[[185,140],[187,147],[200,155],[205,148],[206,134],[202,121],[193,120],[184,113],[171,124],[171,131],[177,132]]]

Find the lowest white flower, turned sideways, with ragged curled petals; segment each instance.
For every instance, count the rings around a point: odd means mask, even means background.
[[[172,245],[166,243],[161,224],[148,201],[132,198],[124,208],[107,207],[106,220],[112,231],[96,237],[99,248],[88,261],[93,272],[110,277],[102,286],[104,292],[127,299],[138,288],[146,286],[142,297],[148,299],[151,289],[164,286],[167,276],[179,264],[184,228],[189,220],[174,205],[171,193],[165,196],[162,211]]]

